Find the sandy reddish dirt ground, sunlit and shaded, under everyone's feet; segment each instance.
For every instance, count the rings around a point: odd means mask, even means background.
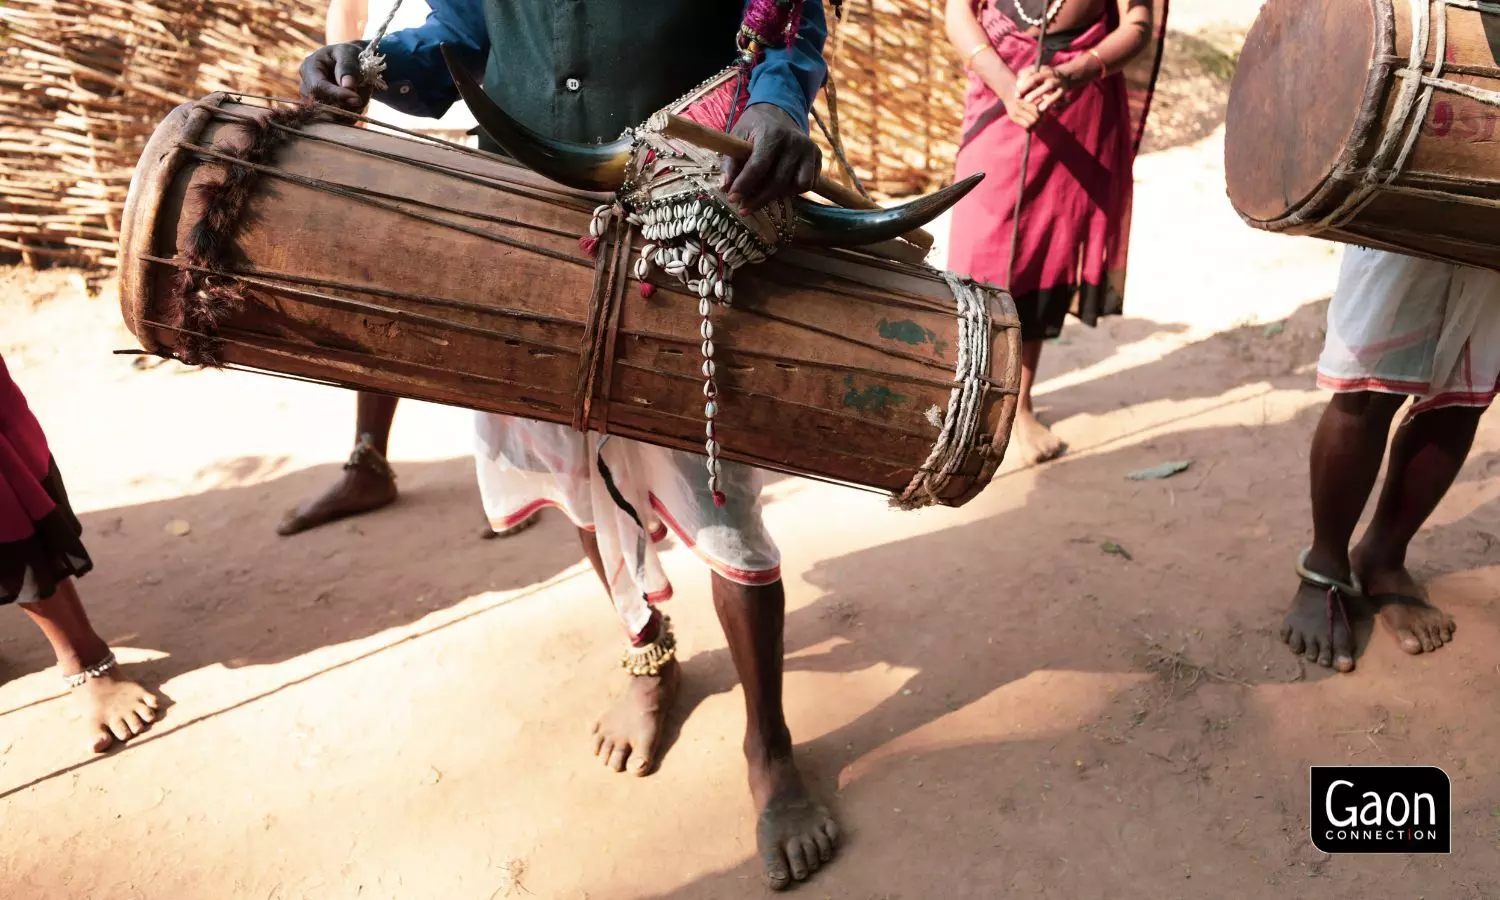
[[[768,489],[790,724],[849,836],[800,896],[1500,897],[1500,418],[1413,548],[1456,642],[1376,633],[1347,676],[1278,645],[1338,256],[1244,228],[1221,153],[1210,129],[1140,160],[1131,315],[1044,358],[1066,458],[962,510]],[[404,405],[402,502],[282,540],[348,452],[350,396],[138,369],[110,352],[134,346],[112,285],[84,288],[0,272],[0,354],[87,528],[84,600],[172,705],[93,758],[40,636],[0,615],[0,897],[762,896],[740,688],[687,550],[675,736],[658,774],[614,776],[585,735],[618,626],[560,516],[476,538],[468,414]],[[1168,460],[1191,468],[1126,478]],[[1446,768],[1452,855],[1317,852],[1306,766],[1344,762]]]

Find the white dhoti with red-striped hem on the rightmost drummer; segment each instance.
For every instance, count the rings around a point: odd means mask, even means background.
[[[1348,248],[1328,308],[1320,387],[1488,406],[1500,388],[1500,273]]]

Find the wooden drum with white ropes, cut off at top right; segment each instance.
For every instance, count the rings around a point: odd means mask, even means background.
[[[1268,231],[1500,268],[1500,14],[1268,0],[1239,57],[1228,196]]]

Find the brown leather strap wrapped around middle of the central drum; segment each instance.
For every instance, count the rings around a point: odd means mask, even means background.
[[[609,388],[615,372],[620,338],[620,308],[630,270],[630,225],[624,216],[609,216],[594,266],[594,294],[588,303],[588,322],[579,346],[578,405],[573,429],[603,432],[609,424]],[[596,416],[597,405],[597,422]]]

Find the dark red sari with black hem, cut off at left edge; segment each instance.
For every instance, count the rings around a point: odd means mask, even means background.
[[[0,604],[45,600],[93,568],[46,435],[0,357]]]

